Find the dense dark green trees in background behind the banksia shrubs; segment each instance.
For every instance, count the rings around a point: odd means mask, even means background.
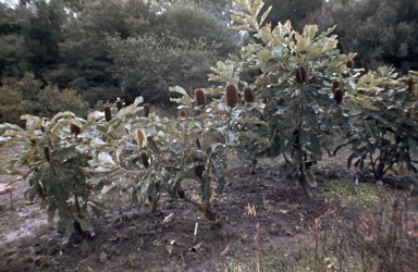
[[[339,47],[358,52],[357,66],[418,70],[416,0],[265,2],[265,10],[272,5],[266,22],[273,25],[291,20],[302,32],[305,24],[336,24]],[[17,122],[25,111],[82,111],[116,97],[167,103],[169,86],[206,87],[210,66],[251,42],[229,29],[230,9],[236,9],[231,0],[0,3],[0,122]],[[46,94],[60,97],[60,107],[48,108]]]

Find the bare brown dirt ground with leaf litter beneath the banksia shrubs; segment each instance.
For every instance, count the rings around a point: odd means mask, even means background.
[[[316,171],[321,178],[351,178],[343,166]],[[67,244],[47,223],[40,203],[24,199],[26,183],[17,183],[15,210],[9,209],[9,195],[0,196],[0,271],[257,271],[260,263],[268,268],[262,271],[283,271],[286,258],[295,259],[295,250],[306,246],[315,219],[329,209],[357,217],[355,208],[322,194],[321,180],[306,198],[299,186],[279,177],[271,161],[261,162],[255,175],[239,165],[231,176],[213,201],[221,226],[184,199],[163,196],[156,214],[147,207],[113,205],[94,220],[95,237],[74,236]],[[197,199],[197,183],[185,188]]]

